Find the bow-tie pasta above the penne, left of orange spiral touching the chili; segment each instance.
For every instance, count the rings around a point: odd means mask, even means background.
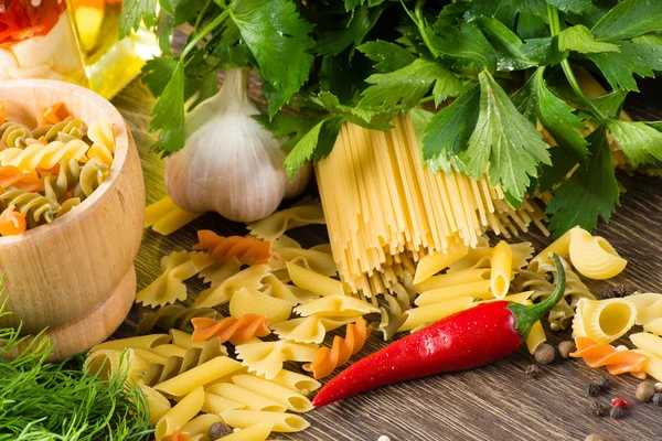
[[[287,361],[312,362],[319,351],[313,344],[293,343],[288,341],[246,343],[235,347],[237,358],[248,372],[264,375],[273,379],[282,369]]]

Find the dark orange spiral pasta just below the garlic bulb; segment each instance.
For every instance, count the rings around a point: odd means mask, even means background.
[[[204,249],[216,260],[227,261],[236,257],[241,262],[255,259],[256,265],[267,263],[271,258],[278,258],[278,255],[271,251],[271,243],[259,240],[253,237],[242,236],[218,236],[209,229],[197,232],[199,244],[193,249]]]

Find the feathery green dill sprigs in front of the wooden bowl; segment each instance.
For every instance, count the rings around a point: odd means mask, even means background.
[[[2,279],[0,279],[0,287]],[[0,288],[0,318],[7,298]],[[38,335],[29,349],[18,329],[0,329],[0,440],[93,441],[149,440],[147,399],[125,375],[105,380],[89,375],[83,356],[45,363],[53,343]]]

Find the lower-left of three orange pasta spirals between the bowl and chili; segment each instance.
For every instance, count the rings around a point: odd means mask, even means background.
[[[222,320],[194,318],[191,319],[191,323],[193,323],[192,342],[206,342],[218,337],[221,343],[227,341],[244,343],[252,337],[264,337],[271,333],[267,318],[258,314],[245,314],[241,319],[225,318]]]

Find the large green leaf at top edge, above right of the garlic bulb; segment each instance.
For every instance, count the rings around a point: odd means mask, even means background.
[[[229,17],[260,68],[264,78],[287,100],[308,79],[314,45],[312,25],[288,0],[235,0]],[[287,62],[284,62],[287,60]],[[270,108],[274,116],[276,108]]]

